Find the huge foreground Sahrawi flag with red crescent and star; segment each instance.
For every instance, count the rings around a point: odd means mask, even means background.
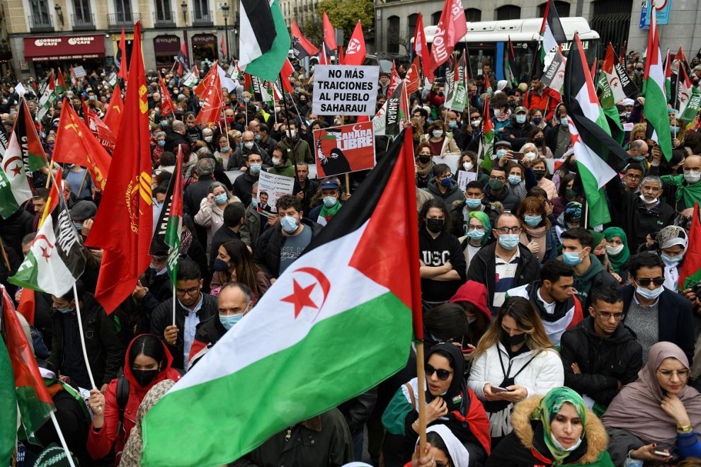
[[[415,200],[407,130],[304,255],[148,413],[143,465],[221,466],[403,368],[411,309],[421,313],[411,306],[420,291]]]

